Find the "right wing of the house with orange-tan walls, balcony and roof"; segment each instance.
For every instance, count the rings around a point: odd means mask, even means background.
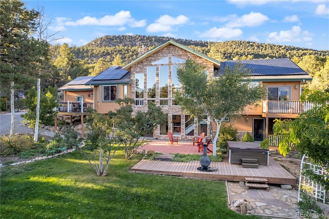
[[[255,141],[262,141],[273,135],[273,120],[295,119],[311,107],[302,103],[300,96],[302,84],[312,77],[289,59],[225,61],[218,73],[226,66],[233,68],[236,63],[251,70],[251,83],[263,83],[267,87],[266,100],[259,107],[247,106],[243,116],[233,121],[241,137],[249,132]]]

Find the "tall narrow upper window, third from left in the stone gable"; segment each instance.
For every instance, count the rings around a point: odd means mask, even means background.
[[[169,66],[159,66],[159,102],[160,105],[168,105],[168,80]]]

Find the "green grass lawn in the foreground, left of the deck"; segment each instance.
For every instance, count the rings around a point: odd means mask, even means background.
[[[79,152],[3,167],[1,218],[259,218],[227,208],[225,182],[129,172],[118,151],[108,176]]]

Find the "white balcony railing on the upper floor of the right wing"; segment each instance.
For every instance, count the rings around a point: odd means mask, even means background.
[[[317,104],[301,101],[266,100],[263,101],[263,113],[300,114],[315,106],[317,106]]]

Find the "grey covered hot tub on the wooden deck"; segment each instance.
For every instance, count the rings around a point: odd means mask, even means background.
[[[260,146],[260,142],[227,141],[229,163],[242,164],[242,159],[257,159],[259,165],[268,165],[269,151]]]

